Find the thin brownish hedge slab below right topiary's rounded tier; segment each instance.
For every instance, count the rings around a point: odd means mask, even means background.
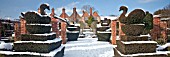
[[[121,41],[148,41],[147,36],[126,36],[121,35]]]

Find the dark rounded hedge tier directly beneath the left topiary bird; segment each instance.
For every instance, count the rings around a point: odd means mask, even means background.
[[[50,33],[51,26],[26,25],[26,29],[30,34],[43,34],[43,33]]]

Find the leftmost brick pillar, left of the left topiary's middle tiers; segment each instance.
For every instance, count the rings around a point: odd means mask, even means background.
[[[14,32],[15,32],[15,37],[14,37],[14,42],[17,40],[20,40],[20,35],[21,35],[21,31],[20,31],[20,23],[16,22],[14,23]]]

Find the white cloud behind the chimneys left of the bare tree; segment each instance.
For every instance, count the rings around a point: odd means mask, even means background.
[[[65,8],[65,12],[70,16],[73,13],[73,8],[76,7],[76,5],[79,4],[79,2],[72,2],[66,6],[61,6],[59,8],[56,8],[55,13],[57,15],[60,15],[62,13],[62,9]],[[78,13],[81,13],[81,9],[78,9],[76,7],[76,11]]]

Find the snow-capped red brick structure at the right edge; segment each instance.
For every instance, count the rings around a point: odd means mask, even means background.
[[[151,30],[152,40],[163,39],[167,42],[170,35],[170,18],[162,18],[160,15],[154,15],[153,29]]]

